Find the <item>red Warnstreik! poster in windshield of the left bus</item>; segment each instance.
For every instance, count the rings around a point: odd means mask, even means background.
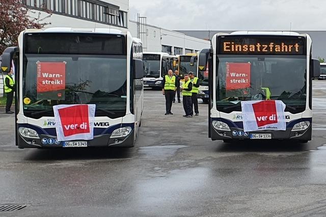
[[[66,63],[37,62],[37,99],[64,100]]]

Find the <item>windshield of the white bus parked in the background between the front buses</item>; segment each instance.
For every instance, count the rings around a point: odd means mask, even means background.
[[[160,55],[159,54],[143,54],[144,77],[159,78],[160,76]]]

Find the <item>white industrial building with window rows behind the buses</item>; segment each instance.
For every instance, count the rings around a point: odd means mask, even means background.
[[[210,47],[210,42],[183,33],[147,24],[146,17],[129,20],[128,0],[23,0],[33,9],[30,16],[47,16],[42,7],[53,11],[47,27],[118,28],[129,30],[143,41],[144,51],[185,54]]]

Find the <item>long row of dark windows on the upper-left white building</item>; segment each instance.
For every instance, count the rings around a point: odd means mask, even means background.
[[[20,0],[29,8],[46,8],[54,13],[127,28],[128,13],[98,0]]]

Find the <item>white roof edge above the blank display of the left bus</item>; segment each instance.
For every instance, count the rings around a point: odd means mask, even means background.
[[[120,34],[126,35],[127,32],[122,32],[116,28],[71,28],[71,27],[50,27],[45,29],[26,29],[25,33],[104,33],[104,34]]]

